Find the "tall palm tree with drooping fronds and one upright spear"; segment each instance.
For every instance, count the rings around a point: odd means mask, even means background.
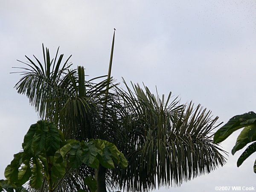
[[[165,100],[146,86],[132,84],[130,88],[124,81],[125,89],[119,88],[110,78],[113,44],[114,36],[107,79],[85,80],[83,67],[72,70],[70,57],[61,64],[63,54],[58,57],[58,50],[51,60],[44,45],[43,64],[35,56],[35,61],[26,56],[28,67],[19,67],[22,78],[15,88],[26,94],[41,119],[58,125],[66,138],[112,142],[128,160],[125,170],[102,166],[70,170],[58,190],[84,189],[82,179],[94,172],[97,192],[113,187],[148,191],[180,185],[223,166],[225,151],[212,142],[211,134],[218,117],[212,118],[210,111],[192,102],[181,105],[171,93]]]

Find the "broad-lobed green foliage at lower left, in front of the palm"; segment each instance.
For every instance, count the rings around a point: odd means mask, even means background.
[[[32,189],[40,189],[45,178],[49,192],[53,192],[69,169],[78,169],[82,163],[98,168],[100,162],[109,168],[108,161],[113,159],[117,165],[127,167],[127,160],[112,143],[104,140],[65,141],[62,133],[48,121],[41,120],[31,125],[22,146],[23,151],[15,154],[11,164],[6,167],[7,180],[1,182],[1,191],[21,190],[21,185],[27,181]],[[112,149],[111,154],[106,158],[104,151],[109,147]],[[123,158],[116,159],[119,156]],[[95,182],[94,177],[89,177],[84,184],[93,191],[97,187]]]

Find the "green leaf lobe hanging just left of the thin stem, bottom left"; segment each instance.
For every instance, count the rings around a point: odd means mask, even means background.
[[[34,158],[32,165],[32,176],[29,181],[29,185],[34,189],[39,189],[43,182],[43,174],[42,174],[42,164],[41,162]]]

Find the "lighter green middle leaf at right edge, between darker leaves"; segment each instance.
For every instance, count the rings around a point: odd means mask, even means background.
[[[251,131],[251,130],[256,131],[256,125],[246,126],[241,131],[241,133],[237,137],[236,145],[232,149],[232,154],[235,154],[236,151],[239,151],[241,148],[243,148],[244,146],[246,146],[248,143],[251,142],[249,135],[248,135],[249,131]],[[253,138],[253,139],[255,139],[255,138]],[[252,141],[254,141],[254,140],[252,140]]]

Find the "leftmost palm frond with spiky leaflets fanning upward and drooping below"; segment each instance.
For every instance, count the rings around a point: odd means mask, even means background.
[[[65,74],[72,64],[67,63],[70,58],[69,57],[63,64],[61,70],[59,70],[63,58],[62,54],[58,59],[57,65],[52,67],[52,61],[50,62],[49,49],[47,48],[46,54],[44,52],[44,58],[47,58],[44,68],[36,57],[35,59],[40,67],[38,67],[37,64],[29,57],[26,56],[26,58],[29,60],[28,64],[22,61],[20,62],[28,65],[29,68],[15,67],[25,70],[22,72],[23,74],[21,74],[23,75],[22,78],[17,82],[17,84],[15,84],[15,88],[17,89],[18,93],[26,94],[26,96],[29,98],[30,104],[35,107],[38,115],[43,119],[47,116],[47,111],[50,111],[49,109],[52,109],[55,105],[56,98],[64,94],[60,88],[60,84],[62,82],[61,80],[65,79]]]

